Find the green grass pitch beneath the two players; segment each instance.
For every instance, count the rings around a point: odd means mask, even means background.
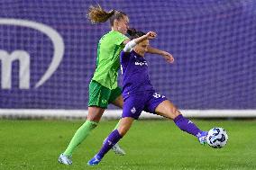
[[[73,165],[63,166],[59,153],[82,121],[0,120],[0,169],[256,169],[256,121],[202,120],[194,122],[203,130],[227,130],[227,146],[201,146],[172,121],[136,121],[120,142],[126,156],[110,151],[99,166],[87,166],[116,122],[102,121],[74,152]]]

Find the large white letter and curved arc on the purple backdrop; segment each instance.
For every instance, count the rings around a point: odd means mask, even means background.
[[[53,57],[51,59],[50,65],[44,74],[41,76],[41,79],[34,85],[34,88],[37,88],[43,85],[50,76],[56,71],[59,67],[59,64],[64,55],[64,40],[59,35],[58,31],[55,31],[50,26],[42,24],[40,22],[32,22],[28,20],[21,19],[8,19],[0,18],[0,25],[14,25],[19,27],[31,28],[36,31],[48,36],[53,45]],[[2,66],[2,79],[1,87],[2,89],[11,89],[12,85],[12,64],[15,60],[19,61],[19,88],[20,89],[29,89],[30,88],[30,55],[27,51],[24,50],[14,50],[11,53],[8,53],[6,50],[0,50],[0,60]]]

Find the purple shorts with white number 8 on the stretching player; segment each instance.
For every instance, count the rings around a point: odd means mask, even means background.
[[[157,93],[131,95],[124,99],[122,118],[131,117],[138,120],[142,111],[155,114],[156,107],[165,100],[167,98],[164,95]]]

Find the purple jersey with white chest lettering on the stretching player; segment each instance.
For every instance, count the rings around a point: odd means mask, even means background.
[[[148,64],[145,58],[131,52],[121,52],[121,71],[123,75],[123,98],[133,94],[154,92],[151,85]]]

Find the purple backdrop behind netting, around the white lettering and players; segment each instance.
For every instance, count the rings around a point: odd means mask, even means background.
[[[158,33],[151,45],[172,53],[175,64],[148,55],[151,83],[179,108],[256,109],[254,0],[0,0],[0,20],[43,23],[65,44],[59,67],[36,88],[53,56],[51,40],[32,28],[0,24],[0,49],[27,51],[31,59],[30,87],[19,88],[20,63],[14,61],[12,87],[0,89],[0,108],[87,109],[97,40],[109,31],[108,22],[87,21],[88,6],[96,3],[127,13],[131,27]]]

